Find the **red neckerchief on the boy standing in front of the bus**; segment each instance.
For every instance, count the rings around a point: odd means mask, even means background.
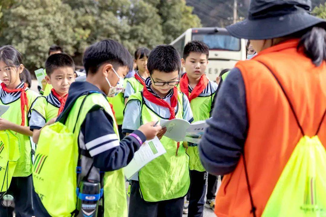
[[[188,97],[189,102],[191,102],[191,100],[198,97],[199,94],[207,87],[208,82],[209,80],[207,79],[206,75],[205,74],[201,75],[198,84],[191,91],[191,94],[189,96],[189,89],[188,89],[189,79],[187,74],[185,73],[185,75],[183,75],[180,80],[180,89],[181,92],[183,92]]]

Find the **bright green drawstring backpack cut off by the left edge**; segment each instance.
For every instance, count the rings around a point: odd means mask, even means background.
[[[17,160],[21,155],[19,138],[11,130],[0,131],[0,193],[10,186]],[[2,194],[1,194],[2,195]]]

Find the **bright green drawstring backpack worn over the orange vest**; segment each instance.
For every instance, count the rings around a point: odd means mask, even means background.
[[[262,217],[326,217],[326,150],[318,138],[326,109],[315,136],[306,136],[283,86],[272,70],[266,67],[281,87],[302,137],[285,165]],[[253,216],[256,216],[246,171],[245,167],[252,212]]]

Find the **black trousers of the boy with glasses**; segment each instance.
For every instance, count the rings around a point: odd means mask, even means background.
[[[131,181],[128,217],[182,217],[184,197],[159,202],[141,198],[139,182]]]

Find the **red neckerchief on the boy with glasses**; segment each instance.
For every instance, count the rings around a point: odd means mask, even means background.
[[[143,96],[150,102],[153,102],[156,105],[163,106],[165,108],[169,108],[170,110],[170,118],[169,120],[172,120],[175,118],[175,106],[177,106],[178,103],[178,89],[177,87],[173,87],[173,95],[171,97],[171,105],[164,101],[161,98],[157,98],[154,96],[151,92],[147,90],[146,85],[143,88]],[[175,155],[178,156],[178,149],[180,147],[180,142],[177,142],[177,150]]]

